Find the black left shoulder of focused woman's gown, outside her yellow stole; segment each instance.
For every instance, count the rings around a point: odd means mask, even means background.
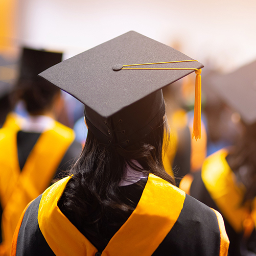
[[[17,239],[16,256],[55,255],[38,226],[37,215],[41,197],[40,195],[30,204],[24,215]]]

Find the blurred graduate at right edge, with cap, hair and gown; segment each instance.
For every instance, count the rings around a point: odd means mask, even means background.
[[[230,255],[256,255],[256,61],[212,77],[211,89],[233,112],[237,142],[208,156],[188,185],[191,196],[219,211],[230,240]],[[230,129],[230,133],[234,129]],[[183,189],[182,185],[181,188]]]

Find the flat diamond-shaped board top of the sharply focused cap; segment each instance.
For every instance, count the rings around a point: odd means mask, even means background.
[[[194,72],[193,70],[121,69],[117,64],[141,64],[192,60],[170,46],[130,31],[42,72],[50,81],[79,101],[110,117],[152,92]],[[197,61],[144,65],[147,68],[202,68]]]

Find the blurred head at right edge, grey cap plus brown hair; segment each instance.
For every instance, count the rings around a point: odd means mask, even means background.
[[[238,182],[245,185],[244,201],[256,196],[256,61],[226,75],[215,75],[211,88],[228,108],[229,120],[239,126],[235,146],[229,150],[228,164]],[[222,113],[220,109],[220,113]],[[227,132],[231,132],[228,129]]]

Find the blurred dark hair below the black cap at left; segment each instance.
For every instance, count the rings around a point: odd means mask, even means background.
[[[38,114],[52,107],[60,89],[41,78],[21,79],[15,86],[16,98],[25,102],[30,114]]]

